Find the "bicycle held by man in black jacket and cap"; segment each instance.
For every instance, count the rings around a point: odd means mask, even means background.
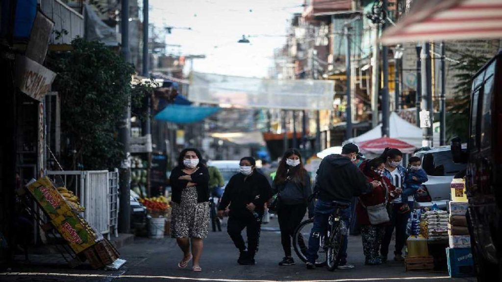
[[[347,226],[342,220],[341,211],[349,207],[350,203],[332,201],[332,204],[335,210],[329,217],[327,234],[321,235],[318,252],[320,260],[315,262],[317,267],[327,265],[330,271],[335,270],[340,263],[344,235],[347,234]],[[313,218],[302,221],[293,235],[293,248],[303,262],[307,262],[308,240],[313,223]]]

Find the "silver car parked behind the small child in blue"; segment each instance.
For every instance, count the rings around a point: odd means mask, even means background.
[[[463,150],[466,150],[464,146]],[[436,204],[446,209],[451,199],[450,183],[456,174],[465,170],[465,164],[453,162],[450,146],[423,149],[415,153],[422,160],[422,168],[427,173],[429,181],[422,185],[425,192],[417,193],[417,207],[431,207]]]

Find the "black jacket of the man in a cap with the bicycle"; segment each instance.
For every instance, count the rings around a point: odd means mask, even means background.
[[[341,155],[329,155],[317,170],[318,198],[350,202],[352,197],[371,192],[372,186],[352,162]]]

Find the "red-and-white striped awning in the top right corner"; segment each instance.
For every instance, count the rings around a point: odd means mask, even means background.
[[[502,0],[415,0],[410,13],[381,42],[502,38]]]

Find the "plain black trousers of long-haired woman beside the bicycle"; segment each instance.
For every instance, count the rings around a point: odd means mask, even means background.
[[[279,220],[279,228],[281,229],[281,243],[284,249],[285,256],[291,256],[291,238],[295,234],[295,230],[302,222],[307,205],[282,205],[277,211]]]

